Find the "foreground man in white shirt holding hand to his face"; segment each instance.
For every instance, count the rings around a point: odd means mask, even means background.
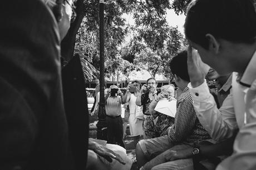
[[[250,0],[194,0],[187,9],[190,92],[199,121],[221,141],[237,131],[232,156],[217,169],[256,168],[256,13]],[[195,51],[197,49],[198,53]],[[200,58],[201,57],[201,58]],[[232,91],[218,110],[204,80],[209,64],[233,73]]]

